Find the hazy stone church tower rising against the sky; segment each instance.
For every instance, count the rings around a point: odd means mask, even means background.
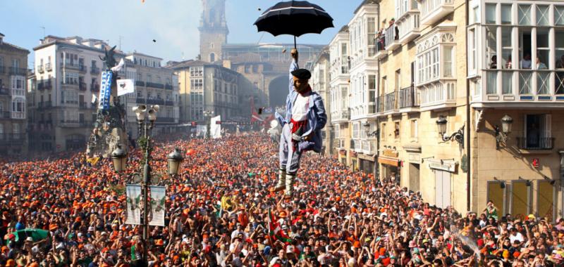
[[[200,20],[200,57],[205,62],[223,60],[221,46],[227,43],[227,21],[225,0],[202,0],[203,13]]]

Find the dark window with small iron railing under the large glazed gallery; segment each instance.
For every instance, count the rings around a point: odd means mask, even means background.
[[[551,149],[551,115],[525,115],[524,149]]]

